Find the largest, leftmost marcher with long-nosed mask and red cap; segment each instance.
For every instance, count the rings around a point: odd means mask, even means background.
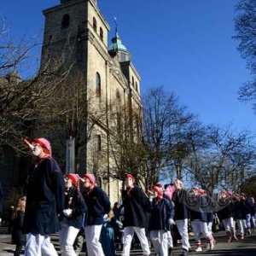
[[[26,211],[23,231],[28,233],[26,256],[58,256],[49,235],[60,230],[58,216],[64,207],[64,177],[51,157],[51,146],[45,138],[25,140],[37,161],[32,165],[26,183]]]

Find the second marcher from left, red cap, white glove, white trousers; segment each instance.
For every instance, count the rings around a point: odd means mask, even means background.
[[[83,225],[82,221],[87,207],[83,195],[79,191],[79,175],[68,173],[65,181],[65,206],[60,217],[61,256],[76,256],[73,243]]]

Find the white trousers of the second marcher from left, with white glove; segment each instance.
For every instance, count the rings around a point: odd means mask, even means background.
[[[73,242],[79,234],[79,229],[67,224],[61,224],[60,244],[61,256],[77,256],[73,249]]]

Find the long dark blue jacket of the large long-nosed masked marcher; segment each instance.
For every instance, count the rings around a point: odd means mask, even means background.
[[[44,236],[60,230],[64,190],[64,177],[54,159],[48,156],[38,166],[32,165],[26,184],[25,233]]]

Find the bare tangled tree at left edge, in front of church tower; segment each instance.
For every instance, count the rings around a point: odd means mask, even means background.
[[[35,119],[49,113],[49,101],[68,70],[63,71],[64,55],[51,59],[51,65],[37,67],[37,38],[10,37],[9,26],[2,20],[0,27],[0,145],[9,145],[22,152],[22,137],[30,136]],[[29,66],[33,67],[29,70]],[[36,66],[36,67],[34,67]],[[30,72],[32,72],[30,74]],[[26,79],[20,78],[24,73]]]

